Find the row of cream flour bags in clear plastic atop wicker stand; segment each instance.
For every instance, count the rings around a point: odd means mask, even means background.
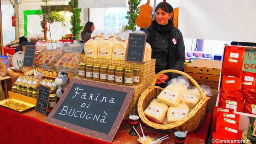
[[[125,60],[125,53],[128,44],[129,33],[138,33],[125,31],[118,33],[101,30],[94,30],[91,34],[91,39],[85,43],[85,57],[102,58],[107,60]],[[144,32],[139,32],[144,33]],[[143,62],[151,60],[151,46],[146,43],[145,56]]]

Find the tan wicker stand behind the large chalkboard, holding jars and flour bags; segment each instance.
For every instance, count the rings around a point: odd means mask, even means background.
[[[113,66],[119,66],[119,67],[125,67],[125,68],[138,68],[141,70],[141,84],[129,86],[134,88],[134,93],[132,95],[131,102],[127,108],[127,111],[124,115],[124,119],[128,119],[129,114],[131,115],[137,115],[137,104],[138,99],[141,93],[146,90],[146,88],[150,85],[152,79],[155,76],[155,59],[151,59],[148,62],[145,63],[130,63],[125,61],[119,61],[119,60],[106,60],[106,59],[100,59],[100,58],[87,58],[83,57],[82,60],[85,63],[97,63],[100,65],[113,65]],[[125,86],[125,85],[120,85]]]

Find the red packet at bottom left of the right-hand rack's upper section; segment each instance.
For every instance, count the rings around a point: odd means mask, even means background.
[[[218,106],[234,109],[234,111],[237,111],[237,112],[243,112],[244,111],[243,95],[220,93]]]

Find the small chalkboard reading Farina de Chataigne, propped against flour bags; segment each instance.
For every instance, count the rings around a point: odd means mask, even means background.
[[[125,61],[143,63],[147,34],[129,33]]]

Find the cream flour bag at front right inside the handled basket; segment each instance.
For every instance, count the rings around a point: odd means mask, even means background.
[[[167,122],[175,123],[183,119],[189,113],[189,107],[181,102],[177,107],[169,107],[167,111]]]

